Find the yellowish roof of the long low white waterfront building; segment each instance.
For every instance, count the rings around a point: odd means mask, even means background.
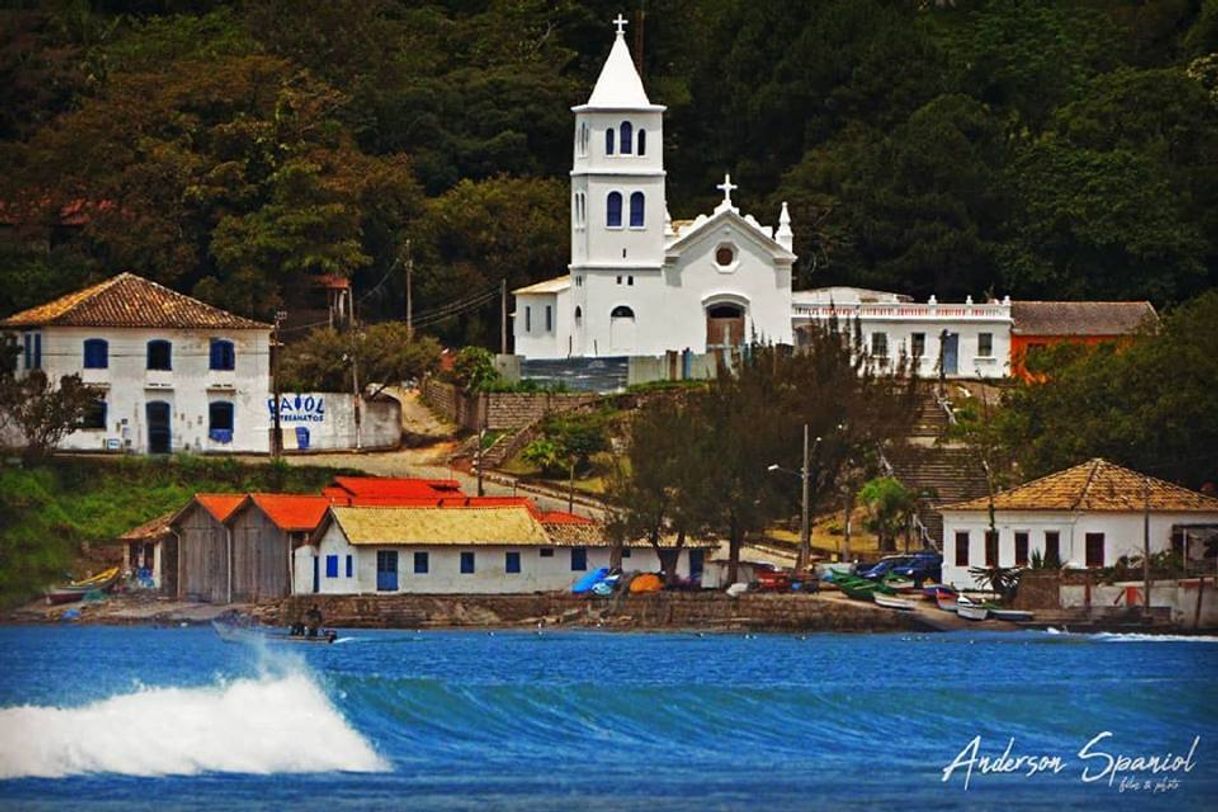
[[[532,514],[512,508],[330,508],[352,544],[549,545]]]

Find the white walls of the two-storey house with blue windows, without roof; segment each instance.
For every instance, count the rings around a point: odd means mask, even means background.
[[[169,404],[174,452],[267,452],[269,432],[264,401],[270,365],[267,330],[151,330],[143,327],[45,327],[43,370],[54,380],[79,374],[105,393],[106,427],[74,431],[60,448],[74,450],[147,452],[145,404]],[[84,341],[108,342],[106,369],[84,369]],[[147,342],[173,343],[171,371],[147,369]],[[211,370],[211,340],[234,343],[235,369]],[[21,334],[18,334],[18,342]],[[234,405],[233,442],[208,437],[208,403]]]

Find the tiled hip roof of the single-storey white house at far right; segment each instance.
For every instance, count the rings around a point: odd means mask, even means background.
[[[1102,459],[1033,480],[994,497],[995,510],[1145,510],[1146,483],[1155,513],[1214,513],[1218,499],[1178,485],[1144,476]],[[970,499],[939,510],[989,510],[989,498]]]

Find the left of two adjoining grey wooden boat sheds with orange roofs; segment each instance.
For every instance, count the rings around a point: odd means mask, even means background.
[[[200,493],[169,522],[178,536],[178,598],[231,603],[231,537],[224,522],[244,499],[240,493]]]

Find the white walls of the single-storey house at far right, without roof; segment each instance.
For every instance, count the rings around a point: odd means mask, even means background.
[[[1151,554],[1170,549],[1172,526],[1218,522],[1218,514],[1151,514]],[[1142,554],[1142,514],[1140,513],[1052,513],[1006,511],[995,515],[999,532],[999,560],[1004,567],[1015,566],[1015,533],[1028,533],[1028,559],[1045,550],[1045,531],[1060,533],[1061,562],[1086,564],[1086,534],[1104,533],[1104,564],[1112,566],[1123,556]],[[985,565],[985,511],[943,511],[943,581],[957,588],[973,589],[977,584],[968,575],[970,567]],[[956,533],[968,533],[968,566],[956,566]]]

